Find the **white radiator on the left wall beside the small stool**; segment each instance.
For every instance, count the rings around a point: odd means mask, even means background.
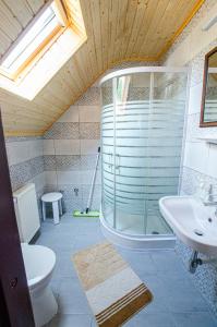
[[[29,183],[13,193],[21,242],[29,242],[40,228],[35,184]]]

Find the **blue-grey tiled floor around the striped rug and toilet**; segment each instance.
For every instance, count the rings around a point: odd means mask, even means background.
[[[64,215],[61,223],[43,223],[37,243],[57,254],[52,289],[59,314],[47,327],[95,327],[95,320],[80,286],[71,256],[80,249],[104,240],[95,218]],[[174,251],[134,252],[118,249],[134,271],[149,287],[154,301],[124,326],[128,327],[215,327],[217,322],[195,289],[190,274]]]

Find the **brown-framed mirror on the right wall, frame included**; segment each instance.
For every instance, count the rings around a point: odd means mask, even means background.
[[[217,47],[205,56],[200,126],[217,126]]]

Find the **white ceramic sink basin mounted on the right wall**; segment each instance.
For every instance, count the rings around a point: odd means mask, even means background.
[[[160,213],[177,237],[193,250],[217,256],[215,209],[192,196],[165,196]]]

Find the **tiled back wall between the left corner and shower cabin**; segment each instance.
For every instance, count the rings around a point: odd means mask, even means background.
[[[67,211],[86,207],[100,138],[99,88],[91,87],[45,134],[46,189],[63,192]],[[100,162],[93,209],[100,207]]]

